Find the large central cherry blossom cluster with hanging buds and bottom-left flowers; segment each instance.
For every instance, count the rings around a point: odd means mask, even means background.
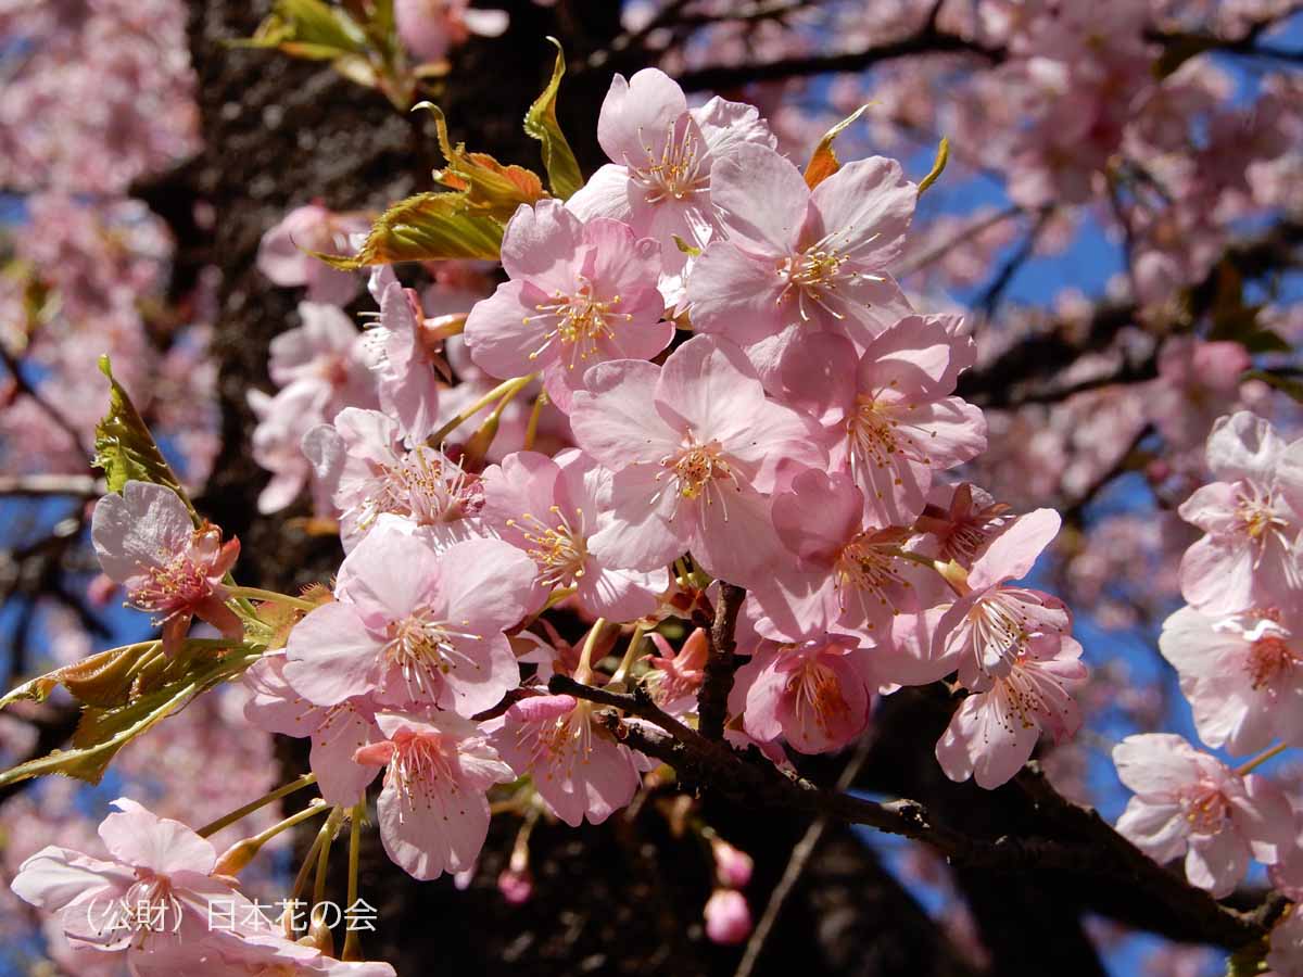
[[[370,328],[306,301],[272,344],[279,391],[253,399],[255,456],[275,472],[261,505],[313,486],[345,551],[331,591],[235,585],[238,542],[168,486],[129,481],[95,507],[100,565],[162,625],[164,657],[193,654],[194,617],[228,649],[249,647],[249,608],[281,621],[242,673],[246,718],[310,740],[332,818],[361,818],[383,775],[380,838],[420,879],[474,866],[502,784],[572,826],[628,805],[655,762],[549,680],[642,685],[697,724],[717,650],[702,629],[678,649],[667,634],[728,593],[744,663],[724,735],[775,763],[784,748],[844,748],[876,696],[950,673],[964,694],[937,758],[952,779],[995,787],[1042,733],[1080,722],[1070,614],[1024,582],[1059,517],[1016,515],[956,478],[985,448],[981,412],[954,395],[975,348],[959,317],[917,311],[891,276],[919,195],[900,165],[856,160],[812,186],[753,107],[689,108],[655,69],[616,76],[598,135],[611,163],[564,203],[521,205],[489,297],[430,317],[384,268]],[[262,267],[344,301],[351,281],[285,246],[343,227],[296,211]],[[512,434],[506,408],[529,399]],[[278,607],[291,617],[268,616]],[[560,640],[551,608],[588,621],[581,642]],[[203,901],[237,894],[253,842],[219,857],[120,804],[102,826],[111,861],[47,848],[14,881],[69,939],[125,950],[142,973],[186,954],[232,972],[379,967],[294,950],[258,912],[236,934],[201,931]],[[735,942],[749,870],[722,839],[713,851],[708,933]],[[523,898],[515,861],[503,888]],[[99,896],[171,907],[184,933],[90,931],[81,916]]]

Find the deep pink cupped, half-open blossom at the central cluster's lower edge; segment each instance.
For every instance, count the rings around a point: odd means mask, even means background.
[[[756,740],[783,737],[800,753],[839,750],[869,723],[872,662],[860,638],[843,634],[762,641],[737,670],[730,711]]]

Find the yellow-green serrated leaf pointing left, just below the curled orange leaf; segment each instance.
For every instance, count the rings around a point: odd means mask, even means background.
[[[351,258],[311,254],[344,271],[367,264],[478,258],[498,261],[502,223],[470,206],[465,191],[418,193],[379,216]]]

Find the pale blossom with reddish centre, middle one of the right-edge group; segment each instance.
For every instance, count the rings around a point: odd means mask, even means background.
[[[1210,617],[1183,607],[1158,647],[1181,673],[1199,739],[1234,753],[1303,744],[1303,633],[1296,612]]]

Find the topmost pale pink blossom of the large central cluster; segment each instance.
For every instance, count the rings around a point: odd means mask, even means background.
[[[670,76],[644,68],[632,78],[611,78],[597,121],[597,141],[610,164],[599,168],[567,202],[581,218],[615,218],[661,245],[662,293],[675,305],[683,294],[688,255],[675,244],[704,248],[717,229],[710,173],[739,146],[774,146],[754,106],[713,98],[688,108]]]

